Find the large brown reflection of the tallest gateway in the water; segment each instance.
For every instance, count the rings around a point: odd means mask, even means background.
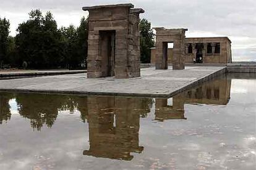
[[[83,155],[132,160],[141,153],[140,116],[150,112],[151,99],[88,97],[90,149]]]

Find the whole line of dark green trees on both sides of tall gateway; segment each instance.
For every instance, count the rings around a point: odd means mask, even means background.
[[[88,18],[80,25],[58,28],[51,12],[32,10],[26,22],[20,23],[15,36],[9,35],[10,22],[0,17],[0,69],[30,68],[78,69],[86,67]],[[141,62],[150,62],[154,34],[151,23],[140,20]]]

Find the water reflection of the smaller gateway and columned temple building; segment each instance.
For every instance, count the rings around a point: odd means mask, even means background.
[[[156,99],[155,119],[186,119],[186,103],[226,105],[230,99],[231,79],[216,79],[181,92],[171,99]]]

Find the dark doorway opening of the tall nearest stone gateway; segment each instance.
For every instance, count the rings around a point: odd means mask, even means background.
[[[115,75],[116,31],[100,31],[101,77]]]

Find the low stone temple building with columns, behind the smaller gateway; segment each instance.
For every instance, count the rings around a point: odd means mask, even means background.
[[[232,63],[228,37],[186,38],[184,46],[184,63]],[[173,53],[173,47],[168,47],[168,63],[174,63]],[[156,63],[155,48],[151,48],[151,63]]]

